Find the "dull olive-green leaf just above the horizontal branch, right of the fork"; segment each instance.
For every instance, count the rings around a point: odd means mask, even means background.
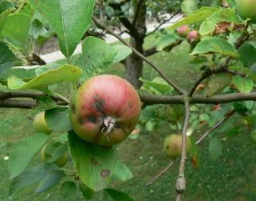
[[[220,93],[232,82],[232,76],[226,73],[219,73],[211,76],[207,83],[207,97]]]

